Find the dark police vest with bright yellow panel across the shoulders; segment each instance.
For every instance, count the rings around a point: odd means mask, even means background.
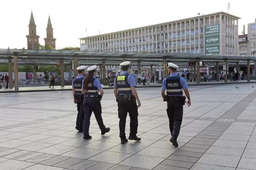
[[[132,94],[131,86],[128,83],[129,75],[130,75],[129,73],[126,73],[123,76],[116,77],[118,94]]]

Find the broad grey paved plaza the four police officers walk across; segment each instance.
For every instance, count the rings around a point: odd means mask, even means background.
[[[192,105],[184,107],[177,148],[160,87],[137,89],[142,140],[123,145],[113,89],[104,90],[101,102],[111,130],[101,135],[92,116],[91,140],[75,129],[71,91],[0,93],[0,169],[256,170],[256,83],[189,90]],[[129,116],[126,128],[129,134]]]

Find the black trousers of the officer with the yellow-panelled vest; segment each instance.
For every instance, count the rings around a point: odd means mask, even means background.
[[[124,98],[118,99],[118,118],[119,118],[119,130],[120,130],[120,138],[126,139],[125,136],[125,123],[127,112],[130,116],[130,136],[136,137],[137,129],[138,129],[138,107],[136,104],[136,100],[127,100]]]

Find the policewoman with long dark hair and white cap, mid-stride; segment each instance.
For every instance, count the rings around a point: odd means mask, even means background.
[[[110,128],[106,128],[101,117],[101,99],[103,89],[98,79],[95,79],[97,66],[93,65],[87,68],[88,74],[85,76],[82,85],[82,93],[84,93],[84,136],[83,139],[91,139],[89,135],[90,118],[93,112],[96,121],[100,127],[101,135],[109,132]],[[100,94],[99,94],[100,91]]]

